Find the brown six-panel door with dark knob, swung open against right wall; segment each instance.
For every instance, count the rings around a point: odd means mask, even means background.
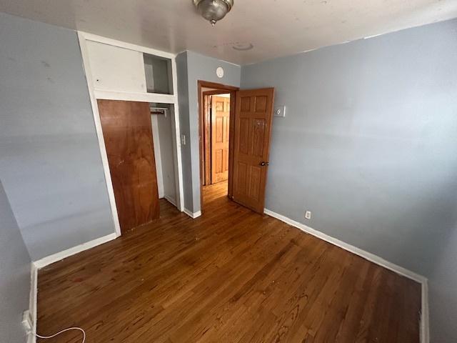
[[[236,92],[232,199],[263,213],[274,89]]]

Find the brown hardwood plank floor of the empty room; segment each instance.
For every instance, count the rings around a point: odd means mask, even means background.
[[[39,271],[38,332],[106,342],[419,342],[421,287],[204,190],[161,218]],[[65,332],[38,342],[81,342]]]

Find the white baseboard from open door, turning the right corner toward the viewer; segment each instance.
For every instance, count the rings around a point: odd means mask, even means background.
[[[428,286],[427,286],[427,278],[423,277],[422,275],[416,274],[415,272],[411,272],[406,268],[400,267],[397,264],[393,264],[391,262],[386,261],[385,259],[376,256],[375,254],[371,254],[371,252],[366,252],[363,249],[358,247],[354,247],[351,244],[346,242],[340,241],[334,237],[328,236],[328,234],[324,234],[316,229],[306,226],[305,224],[301,224],[300,222],[296,222],[293,219],[290,219],[282,214],[278,214],[276,212],[271,211],[270,209],[264,209],[263,212],[268,214],[273,218],[281,220],[281,222],[285,222],[286,224],[291,225],[292,227],[296,227],[307,234],[311,234],[314,237],[322,239],[330,244],[336,245],[336,247],[340,247],[348,252],[352,252],[363,259],[366,259],[370,262],[378,264],[381,267],[391,270],[396,274],[400,274],[403,277],[407,277],[413,281],[416,281],[421,284],[421,324],[420,324],[420,334],[421,334],[421,343],[429,343],[429,322],[428,322]]]

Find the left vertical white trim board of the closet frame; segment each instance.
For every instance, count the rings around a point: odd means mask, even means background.
[[[111,181],[111,174],[109,172],[108,155],[106,154],[103,130],[101,129],[99,106],[97,105],[96,97],[94,95],[94,82],[92,81],[91,65],[89,63],[89,53],[87,51],[86,39],[84,35],[80,32],[78,32],[78,39],[79,47],[81,49],[81,56],[83,59],[84,73],[86,74],[87,87],[89,89],[89,97],[91,99],[92,114],[94,115],[95,130],[97,134],[97,139],[99,139],[101,164],[103,165],[103,170],[105,173],[106,189],[108,191],[108,198],[111,207],[111,214],[113,216],[114,229],[116,230],[116,236],[119,237],[121,236],[121,225],[119,224],[116,199],[114,198],[113,182]]]

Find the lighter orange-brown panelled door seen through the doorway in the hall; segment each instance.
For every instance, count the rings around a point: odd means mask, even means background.
[[[229,179],[230,98],[211,96],[211,183]]]

